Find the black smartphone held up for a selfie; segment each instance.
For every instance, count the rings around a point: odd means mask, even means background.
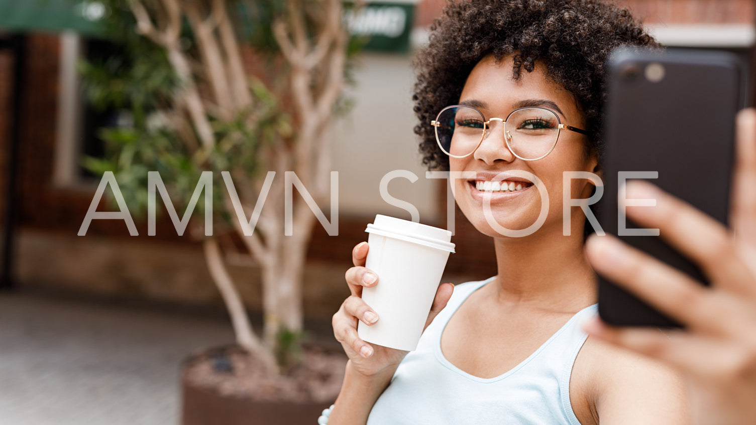
[[[739,59],[722,51],[621,48],[607,66],[600,226],[708,285],[696,264],[653,236],[652,229],[644,231],[624,217],[618,194],[624,194],[627,180],[649,179],[727,223],[735,117],[743,103]],[[612,325],[680,326],[602,277],[599,314]]]

